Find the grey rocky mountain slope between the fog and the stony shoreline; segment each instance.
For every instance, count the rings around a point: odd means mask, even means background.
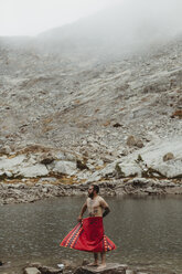
[[[165,165],[146,177],[181,178],[181,36],[144,52],[68,53],[38,46],[34,39],[0,39],[2,180],[142,177],[130,167],[124,171],[122,162],[139,155],[143,160],[144,149],[149,157],[158,150],[156,166],[172,155],[165,161],[171,171]]]

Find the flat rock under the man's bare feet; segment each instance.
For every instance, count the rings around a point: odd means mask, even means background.
[[[126,274],[127,265],[108,263],[104,270],[97,270],[95,266],[82,266],[78,267],[74,274]]]

